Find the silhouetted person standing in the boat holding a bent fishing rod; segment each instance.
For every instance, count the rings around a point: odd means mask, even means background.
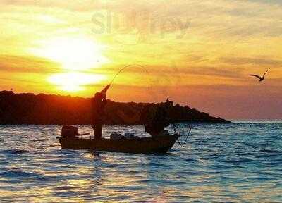
[[[94,130],[94,137],[101,139],[104,108],[106,106],[106,90],[110,85],[106,85],[101,92],[96,92],[92,99],[92,128]]]

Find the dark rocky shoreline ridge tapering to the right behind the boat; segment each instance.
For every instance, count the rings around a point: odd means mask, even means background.
[[[170,106],[168,114],[175,122],[230,123],[197,109],[167,102]],[[164,103],[121,103],[108,100],[105,125],[145,125],[154,109],[161,104]],[[90,98],[1,91],[0,125],[90,125],[90,107]]]

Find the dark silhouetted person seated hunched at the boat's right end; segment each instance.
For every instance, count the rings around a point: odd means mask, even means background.
[[[169,125],[167,119],[166,106],[157,106],[156,113],[152,121],[145,125],[145,132],[152,137],[156,137]]]

